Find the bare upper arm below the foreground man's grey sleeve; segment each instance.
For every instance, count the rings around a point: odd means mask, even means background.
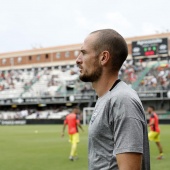
[[[141,153],[122,153],[116,155],[119,170],[141,170]]]

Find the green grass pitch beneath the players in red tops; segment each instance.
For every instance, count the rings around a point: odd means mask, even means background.
[[[79,160],[68,160],[68,136],[61,138],[61,125],[0,126],[1,170],[87,170],[87,127],[80,132]],[[151,169],[170,169],[170,125],[161,125],[165,158],[156,160],[158,151],[150,143]]]

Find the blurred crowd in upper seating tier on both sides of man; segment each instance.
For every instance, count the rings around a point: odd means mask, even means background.
[[[127,60],[123,64],[119,78],[136,90],[170,89],[170,64],[147,62],[133,63]],[[62,67],[44,67],[0,71],[0,98],[56,96],[70,93],[93,92],[91,84],[85,84],[78,78],[75,65]]]

